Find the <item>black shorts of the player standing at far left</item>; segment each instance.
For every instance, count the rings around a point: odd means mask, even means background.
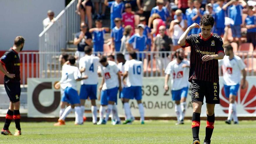
[[[10,99],[10,102],[19,102],[19,97],[20,97],[20,92],[21,92],[21,88],[20,88],[20,83],[16,82],[8,82],[8,83],[4,83],[4,88],[6,90],[6,93]]]

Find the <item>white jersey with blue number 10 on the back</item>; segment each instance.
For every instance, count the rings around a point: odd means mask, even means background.
[[[125,63],[125,71],[128,72],[126,86],[142,86],[143,64],[142,61],[129,60]]]

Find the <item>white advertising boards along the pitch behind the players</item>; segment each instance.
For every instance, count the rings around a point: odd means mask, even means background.
[[[28,117],[58,117],[59,103],[61,99],[60,90],[54,89],[54,83],[59,79],[28,79]],[[101,80],[99,80],[100,83]],[[247,87],[239,89],[237,96],[237,113],[239,117],[256,116],[256,77],[247,77]],[[174,102],[171,99],[170,90],[165,91],[164,77],[143,78],[143,104],[145,117],[175,117]],[[78,89],[80,85],[78,83]],[[220,77],[221,104],[216,105],[216,116],[227,116],[228,100],[223,90],[223,78]],[[99,93],[98,93],[99,95]],[[192,113],[191,92],[187,96],[187,112],[185,116],[190,117]],[[99,109],[100,102],[97,101]],[[86,116],[91,117],[90,100],[86,101]],[[135,100],[130,101],[131,111],[134,116],[139,117],[138,106]],[[118,99],[118,113],[124,116],[122,103]],[[202,116],[206,116],[206,104],[202,106]],[[74,117],[74,114],[71,114]]]

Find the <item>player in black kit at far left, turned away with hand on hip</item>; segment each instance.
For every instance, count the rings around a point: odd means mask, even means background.
[[[10,99],[10,106],[6,113],[6,119],[1,131],[3,135],[12,135],[9,131],[12,119],[15,121],[16,130],[15,136],[21,135],[20,129],[20,114],[19,114],[19,97],[20,97],[20,59],[18,52],[22,51],[24,46],[24,38],[17,36],[14,40],[14,45],[6,51],[0,58],[0,70],[5,74],[4,88]],[[3,67],[5,66],[5,68]]]

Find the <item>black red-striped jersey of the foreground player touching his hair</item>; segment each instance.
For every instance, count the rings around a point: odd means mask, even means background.
[[[211,34],[205,39],[201,33],[190,35],[186,38],[184,47],[191,47],[189,81],[192,79],[218,82],[218,60],[202,61],[204,55],[214,55],[224,53],[223,41],[220,36]]]

